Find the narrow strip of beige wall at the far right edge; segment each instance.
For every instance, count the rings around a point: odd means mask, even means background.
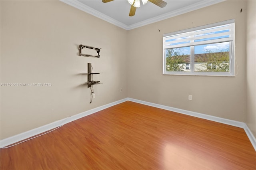
[[[247,119],[256,137],[256,1],[247,1]]]

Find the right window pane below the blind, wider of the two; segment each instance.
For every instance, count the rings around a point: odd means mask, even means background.
[[[230,42],[194,46],[194,71],[229,72]]]

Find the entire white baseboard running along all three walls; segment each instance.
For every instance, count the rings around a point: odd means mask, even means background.
[[[56,127],[60,127],[62,125],[65,125],[66,123],[70,123],[72,121],[75,121],[77,119],[80,119],[80,118],[88,116],[88,115],[91,115],[93,113],[96,113],[96,112],[101,111],[103,109],[106,109],[108,107],[123,103],[125,101],[132,101],[132,102],[140,103],[140,104],[143,104],[143,105],[148,105],[148,106],[157,107],[157,108],[168,110],[168,111],[173,111],[173,112],[176,112],[176,113],[181,113],[181,114],[184,114],[184,115],[190,115],[190,116],[198,117],[198,118],[201,118],[201,119],[206,119],[206,120],[210,120],[210,121],[214,121],[214,122],[218,122],[218,123],[223,123],[223,124],[226,124],[226,125],[232,125],[232,126],[235,126],[235,127],[244,128],[244,131],[246,132],[250,142],[252,143],[252,146],[254,147],[254,149],[256,151],[256,138],[254,137],[254,135],[252,134],[252,132],[250,131],[250,129],[248,128],[246,123],[239,122],[239,121],[233,121],[233,120],[230,120],[230,119],[224,119],[224,118],[220,118],[220,117],[214,117],[214,116],[211,116],[211,115],[205,115],[205,114],[202,114],[202,113],[196,113],[196,112],[187,111],[187,110],[183,110],[183,109],[177,109],[177,108],[174,108],[174,107],[159,105],[159,104],[150,103],[150,102],[141,101],[141,100],[132,99],[132,98],[125,98],[125,99],[122,99],[122,100],[119,100],[119,101],[116,101],[116,102],[113,102],[113,103],[109,103],[107,105],[96,107],[96,108],[91,109],[89,111],[85,111],[83,113],[79,113],[77,115],[73,115],[71,117],[67,117],[65,119],[55,121],[53,123],[44,125],[42,127],[34,128],[32,130],[28,130],[26,132],[11,136],[9,138],[5,138],[5,139],[0,141],[0,147],[3,148],[5,146],[8,146],[8,145],[14,144],[16,142],[19,142],[19,141],[25,140],[27,138],[30,138],[32,136],[36,136],[40,133],[46,132],[46,131],[51,130],[51,129],[56,128]]]

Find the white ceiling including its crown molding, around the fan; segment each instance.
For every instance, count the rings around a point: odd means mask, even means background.
[[[131,5],[127,0],[114,0],[108,3],[103,3],[102,0],[61,1],[126,30],[223,2],[223,0],[164,0],[167,2],[164,8],[151,2],[145,5],[140,2],[140,8],[137,8],[135,16],[131,17],[128,16]]]

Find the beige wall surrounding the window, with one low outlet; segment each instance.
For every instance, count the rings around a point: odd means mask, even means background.
[[[246,1],[225,1],[128,32],[128,97],[245,122]],[[162,75],[162,36],[235,19],[235,77]],[[160,30],[160,32],[158,31]],[[236,73],[238,68],[236,66]],[[188,95],[193,100],[188,100]]]

